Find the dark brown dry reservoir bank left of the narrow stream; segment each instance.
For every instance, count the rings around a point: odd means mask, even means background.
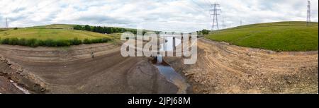
[[[68,48],[0,45],[0,64],[6,65],[0,70],[31,93],[177,92],[177,86],[146,57],[123,57],[120,47],[111,43]]]

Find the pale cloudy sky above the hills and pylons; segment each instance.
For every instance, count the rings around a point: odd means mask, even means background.
[[[215,2],[226,28],[307,16],[306,0],[0,0],[0,28],[8,18],[10,27],[66,23],[189,32],[211,29],[208,10]],[[311,2],[318,22],[318,0]]]

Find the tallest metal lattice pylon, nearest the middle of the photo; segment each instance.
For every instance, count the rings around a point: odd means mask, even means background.
[[[218,25],[218,16],[220,16],[220,4],[211,4],[211,16],[213,16],[213,23],[211,25],[211,31],[213,30],[219,30],[219,25]],[[219,12],[219,13],[218,13]],[[217,29],[215,29],[217,28]]]

